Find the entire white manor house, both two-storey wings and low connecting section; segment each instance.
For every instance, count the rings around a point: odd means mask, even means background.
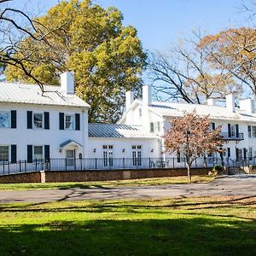
[[[0,83],[0,172],[4,163],[20,163],[21,170],[49,159],[62,169],[146,168],[155,166],[157,159],[162,163],[171,158],[166,161],[169,166],[183,166],[181,155],[163,153],[163,135],[173,117],[194,110],[209,115],[212,129],[222,125],[224,154],[207,157],[256,156],[251,99],[241,100],[240,108],[233,95],[226,96],[225,107],[212,99],[207,105],[152,102],[148,85],[143,86],[142,100],[134,99],[131,91],[125,97],[125,113],[118,124],[88,124],[90,106],[75,96],[72,73],[61,74],[61,86],[45,85],[44,94],[35,84]]]

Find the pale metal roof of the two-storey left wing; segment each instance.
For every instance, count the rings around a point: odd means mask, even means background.
[[[0,102],[87,107],[79,96],[61,92],[61,86],[44,85],[44,95],[37,84],[0,83]]]

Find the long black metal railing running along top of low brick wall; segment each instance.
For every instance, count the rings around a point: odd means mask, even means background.
[[[231,160],[214,157],[196,158],[192,168],[212,167],[217,164],[226,167],[255,166],[256,159]],[[84,171],[84,170],[125,170],[186,168],[183,158],[108,158],[108,159],[49,159],[19,160],[15,163],[1,162],[0,175],[35,171]]]

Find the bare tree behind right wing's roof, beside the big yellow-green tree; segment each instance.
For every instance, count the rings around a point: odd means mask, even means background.
[[[238,90],[230,73],[211,67],[207,50],[197,47],[201,33],[195,32],[194,37],[183,40],[167,54],[155,52],[149,56],[148,75],[157,94],[167,100],[201,104],[210,97],[221,99]]]

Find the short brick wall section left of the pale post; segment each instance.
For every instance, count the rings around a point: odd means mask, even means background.
[[[41,183],[40,172],[26,172],[0,176],[0,183]]]

